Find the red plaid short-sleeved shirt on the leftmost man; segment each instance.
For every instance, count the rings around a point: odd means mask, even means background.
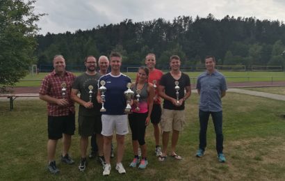
[[[47,102],[47,114],[49,116],[68,116],[70,114],[70,111],[75,113],[74,102],[70,99],[70,92],[74,79],[75,75],[71,72],[65,72],[64,76],[61,77],[60,75],[56,74],[55,71],[53,71],[44,77],[42,80],[42,85],[40,86],[39,93],[41,95],[49,95],[57,99],[62,99],[63,91],[61,91],[61,84],[65,82],[65,100],[67,100],[69,103],[66,107],[60,107],[58,104]]]

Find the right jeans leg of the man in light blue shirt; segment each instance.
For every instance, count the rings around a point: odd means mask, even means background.
[[[222,153],[224,136],[222,134],[222,111],[211,112],[213,125],[215,127],[215,144],[217,153]]]

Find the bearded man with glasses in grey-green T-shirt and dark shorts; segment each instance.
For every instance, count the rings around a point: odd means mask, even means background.
[[[98,145],[98,160],[104,165],[103,136],[101,135],[100,104],[97,102],[98,80],[101,74],[96,72],[97,63],[94,56],[85,58],[86,72],[76,77],[72,86],[71,97],[79,106],[79,134],[81,162],[79,171],[86,169],[86,151],[88,148],[88,136],[96,134]],[[77,94],[80,92],[80,97]]]

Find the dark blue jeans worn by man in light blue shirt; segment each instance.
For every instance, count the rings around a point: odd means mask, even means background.
[[[202,111],[199,109],[199,122],[200,122],[200,132],[199,132],[199,148],[205,150],[206,148],[206,134],[209,116],[212,116],[213,125],[215,127],[215,148],[218,153],[222,153],[224,136],[222,135],[222,111],[210,112]]]

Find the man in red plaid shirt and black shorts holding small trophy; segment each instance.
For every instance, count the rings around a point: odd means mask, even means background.
[[[63,153],[61,162],[73,164],[68,155],[72,135],[75,131],[74,102],[70,99],[75,75],[65,71],[65,58],[54,56],[54,71],[47,74],[40,87],[40,99],[47,102],[47,125],[49,141],[47,141],[48,169],[51,173],[59,173],[56,167],[55,155],[58,139],[63,138]]]

